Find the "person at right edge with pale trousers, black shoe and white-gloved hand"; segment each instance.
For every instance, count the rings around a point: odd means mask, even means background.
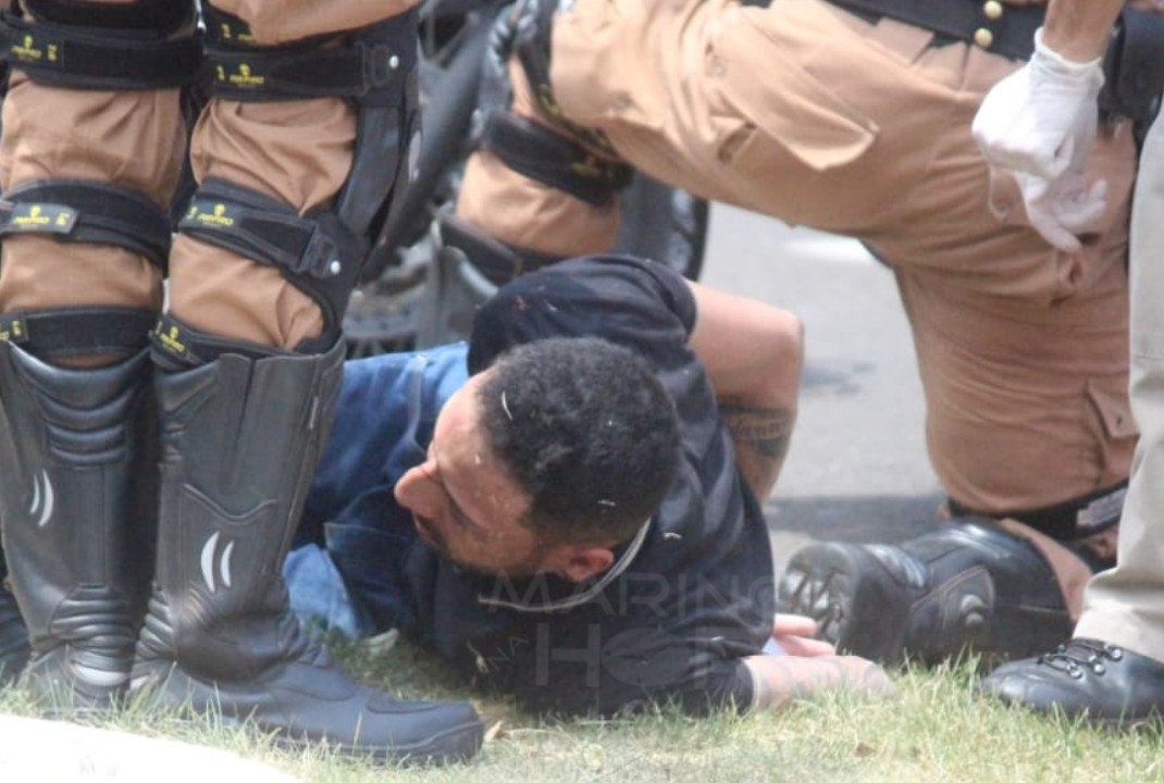
[[[1078,218],[1102,200],[1103,184],[1083,176],[1105,81],[1100,57],[1120,10],[1116,0],[1052,0],[1030,65],[987,95],[974,131],[992,163],[1013,170],[1028,201],[1051,218],[1049,240],[1073,236]],[[1127,20],[1121,35],[1127,37]],[[1157,50],[1158,51],[1158,50]],[[1134,70],[1134,78],[1148,71]],[[1110,78],[1110,74],[1108,74]],[[1117,74],[1116,74],[1117,78]],[[1142,437],[1128,486],[1119,562],[1088,584],[1069,643],[1017,661],[981,690],[1034,710],[1087,714],[1105,724],[1158,719],[1164,711],[1161,606],[1161,134],[1144,141],[1131,220],[1131,401]]]

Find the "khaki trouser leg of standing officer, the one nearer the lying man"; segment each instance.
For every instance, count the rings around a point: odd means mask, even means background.
[[[215,3],[247,21],[264,44],[362,27],[411,5],[412,0]],[[226,179],[278,198],[303,214],[329,204],[347,180],[355,123],[353,105],[338,98],[211,100],[191,140],[194,177]],[[314,300],[281,271],[187,236],[175,241],[170,280],[171,312],[200,330],[284,349],[322,330]]]

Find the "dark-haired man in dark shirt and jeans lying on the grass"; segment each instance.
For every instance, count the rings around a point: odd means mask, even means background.
[[[398,627],[538,711],[889,690],[804,639],[811,621],[773,620],[760,501],[801,366],[794,315],[662,265],[518,278],[468,347],[348,362],[293,603],[353,633]]]

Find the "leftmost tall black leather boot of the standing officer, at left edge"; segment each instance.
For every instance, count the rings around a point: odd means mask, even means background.
[[[0,342],[3,548],[24,683],[49,711],[107,709],[129,682],[152,558],[151,370],[144,349],[81,370]]]

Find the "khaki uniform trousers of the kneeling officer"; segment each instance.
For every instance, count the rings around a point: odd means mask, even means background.
[[[859,237],[892,266],[934,468],[954,500],[999,515],[1121,482],[1136,435],[1131,128],[1105,128],[1096,143],[1091,173],[1110,197],[1096,235],[1077,255],[1055,250],[970,134],[985,91],[1016,66],[823,0],[579,0],[559,13],[552,48],[565,115],[603,130],[629,163],[708,199]],[[527,104],[519,95],[514,111]],[[488,154],[470,159],[457,213],[562,255],[608,249],[617,222],[616,209]]]

